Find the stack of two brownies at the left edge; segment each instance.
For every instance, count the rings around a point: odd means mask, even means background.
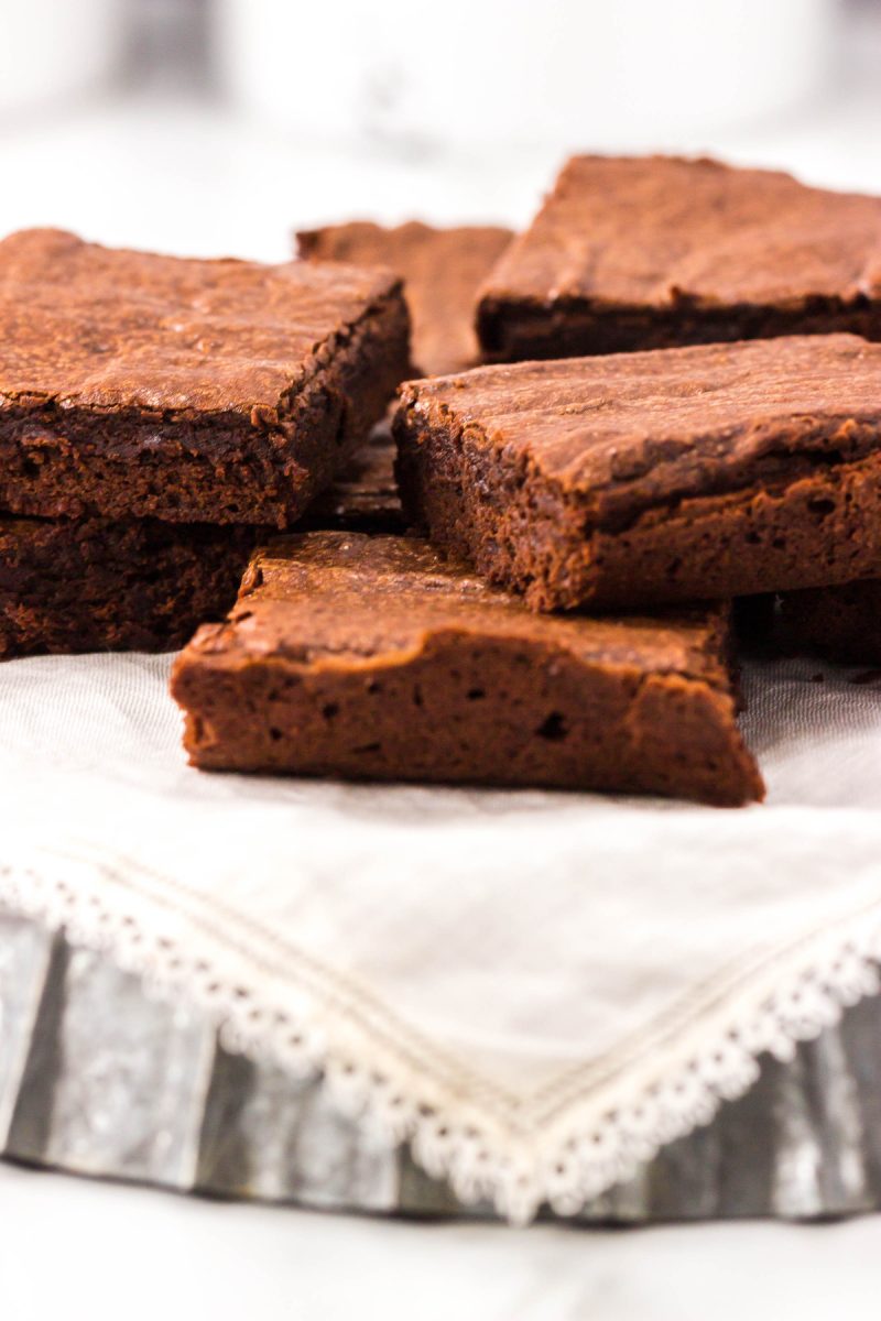
[[[0,657],[166,650],[407,373],[390,275],[0,243]]]

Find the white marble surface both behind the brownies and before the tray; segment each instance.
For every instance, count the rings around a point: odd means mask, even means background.
[[[868,89],[712,148],[881,192]],[[650,145],[650,144],[646,144]],[[0,129],[0,231],[279,259],[353,213],[523,222],[556,160],[329,157],[194,100],[81,106]],[[411,1225],[199,1202],[0,1166],[0,1316],[45,1321],[728,1321],[877,1316],[881,1218],[631,1232]]]

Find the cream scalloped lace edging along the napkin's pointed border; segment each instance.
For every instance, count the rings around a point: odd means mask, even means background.
[[[177,941],[147,931],[99,890],[0,867],[0,904],[65,931],[73,945],[106,952],[137,975],[148,993],[172,1001],[185,996],[211,1017],[226,1050],[272,1059],[299,1078],[322,1074],[342,1114],[386,1141],[409,1143],[416,1162],[446,1178],[460,1201],[489,1201],[518,1225],[543,1203],[559,1215],[576,1215],[662,1147],[709,1123],[722,1102],[742,1096],[758,1077],[761,1054],[791,1058],[799,1041],[819,1036],[881,985],[878,901],[808,935],[795,958],[771,958],[774,989],[741,1017],[734,1005],[726,1021],[717,1015],[697,1049],[671,1048],[675,1058],[663,1077],[643,1082],[626,1106],[597,1115],[596,1094],[576,1094],[551,1131],[536,1136],[510,1131],[503,1119],[461,1096],[445,1096],[436,1081],[392,1058],[394,1050],[378,1048],[370,1062],[357,1059],[351,1032],[334,1022],[338,1007],[320,997],[299,1013],[272,1004],[271,996],[226,976],[221,960],[193,956]],[[334,1026],[342,1028],[335,1041]]]

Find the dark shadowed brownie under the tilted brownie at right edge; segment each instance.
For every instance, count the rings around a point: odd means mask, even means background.
[[[763,653],[881,666],[881,580],[804,588],[738,602],[741,627]]]

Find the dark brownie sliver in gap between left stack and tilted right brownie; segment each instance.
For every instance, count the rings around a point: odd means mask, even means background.
[[[388,417],[371,431],[333,486],[309,506],[299,530],[403,532],[407,528],[395,480],[395,441]]]

